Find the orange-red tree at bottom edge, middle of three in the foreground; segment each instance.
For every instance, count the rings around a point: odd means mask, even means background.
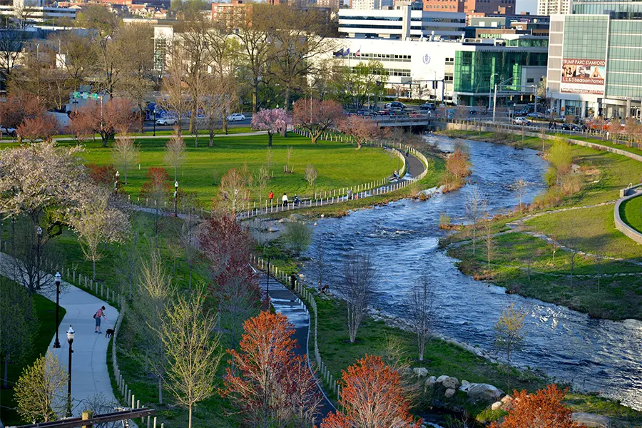
[[[408,412],[401,375],[381,357],[366,355],[343,371],[339,404],[342,411],[329,414],[322,428],[422,426]]]

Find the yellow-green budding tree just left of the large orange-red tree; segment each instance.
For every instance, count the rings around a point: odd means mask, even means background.
[[[165,348],[164,380],[178,404],[188,407],[188,428],[192,428],[194,405],[216,390],[216,370],[223,356],[214,333],[218,317],[207,310],[205,297],[198,294],[178,296],[166,308],[165,318],[156,329]]]

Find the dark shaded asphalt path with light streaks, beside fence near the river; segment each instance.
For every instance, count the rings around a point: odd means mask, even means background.
[[[257,271],[259,275],[259,284],[261,290],[267,290],[267,274],[265,272]],[[282,313],[287,317],[287,320],[292,322],[295,326],[295,339],[299,342],[299,347],[296,349],[297,355],[306,355],[309,351],[308,339],[310,338],[310,313],[305,309],[305,305],[290,289],[282,285],[280,282],[270,277],[270,300],[277,312]],[[308,357],[308,364],[310,358]],[[317,378],[317,384],[319,379]],[[328,413],[334,412],[336,409],[329,399],[325,396],[325,392],[319,384],[319,389],[323,394],[320,412],[321,419],[325,418]],[[321,422],[319,420],[319,422]]]

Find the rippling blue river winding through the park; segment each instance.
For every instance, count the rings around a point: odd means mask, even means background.
[[[427,136],[440,148],[452,149],[452,140]],[[500,212],[517,205],[510,185],[516,178],[529,182],[524,202],[545,185],[546,162],[536,151],[516,150],[491,143],[465,141],[473,165],[472,185],[492,195],[489,208]],[[330,264],[327,284],[340,294],[340,272],[347,255],[369,253],[381,280],[372,307],[384,314],[404,316],[403,302],[422,274],[432,281],[436,297],[434,330],[456,340],[493,351],[493,325],[507,302],[515,302],[526,317],[524,350],[512,359],[521,365],[587,390],[621,399],[642,409],[642,322],[593,320],[586,314],[539,300],[506,295],[504,289],[463,275],[444,250],[437,248],[439,214],[453,221],[464,217],[467,185],[457,192],[437,194],[427,201],[400,200],[387,206],[350,213],[344,218],[317,221],[315,240],[307,255],[324,245]],[[312,279],[312,267],[303,273]],[[328,277],[329,276],[329,277]],[[334,287],[333,287],[334,286]],[[447,374],[447,373],[445,373]]]

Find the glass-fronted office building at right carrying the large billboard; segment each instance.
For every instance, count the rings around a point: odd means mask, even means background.
[[[599,4],[597,14],[551,16],[548,96],[561,115],[640,118],[642,4]]]

